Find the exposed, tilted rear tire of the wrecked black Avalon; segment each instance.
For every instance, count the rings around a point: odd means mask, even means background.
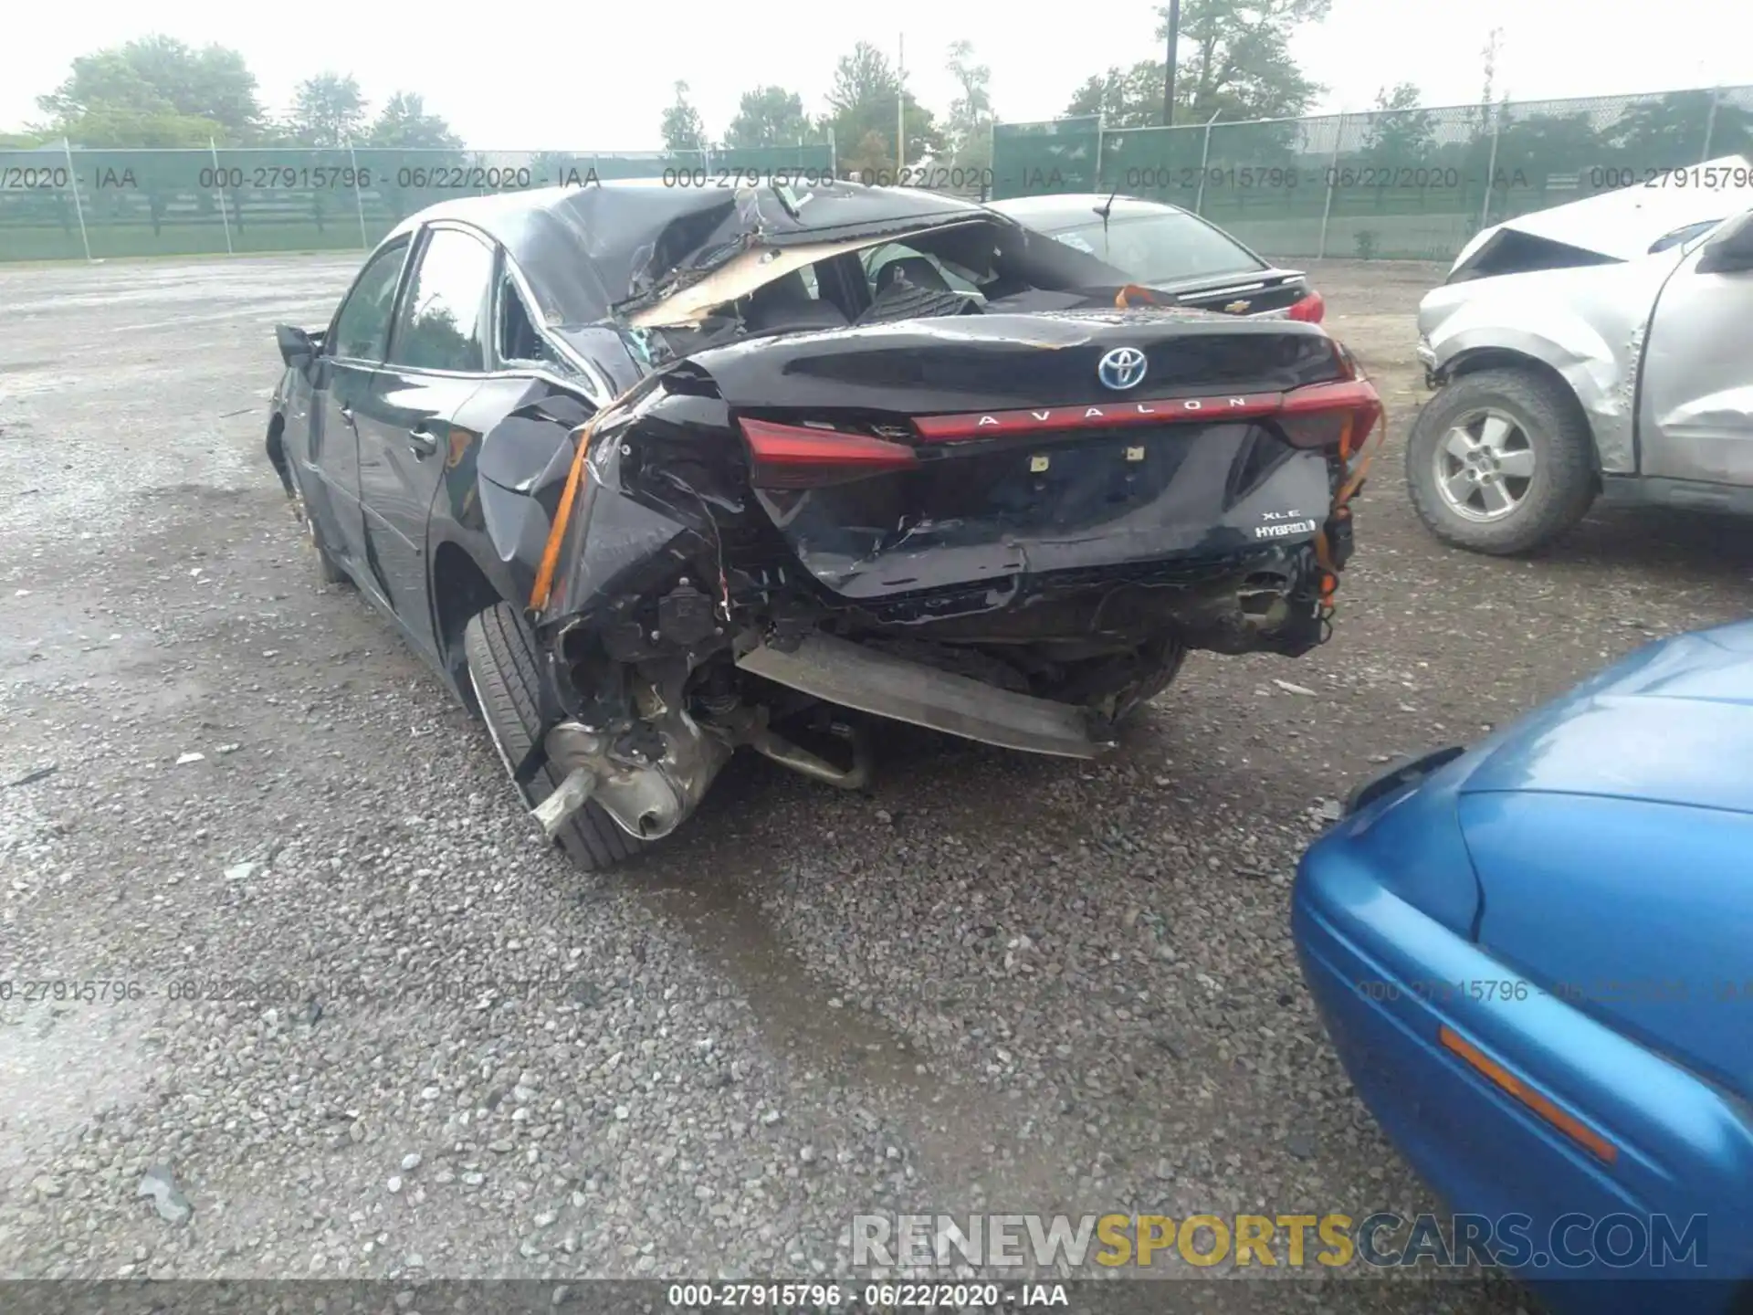
[[[542,665],[535,636],[510,603],[494,603],[470,619],[463,631],[463,654],[475,703],[508,777],[542,731]],[[517,789],[533,808],[561,780],[559,770],[543,763],[529,789]],[[601,871],[638,854],[645,842],[629,836],[598,803],[587,801],[561,828],[559,845],[582,871]]]

